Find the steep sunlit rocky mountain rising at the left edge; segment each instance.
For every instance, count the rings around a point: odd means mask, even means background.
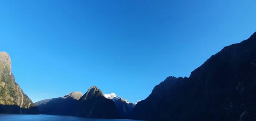
[[[38,107],[15,82],[11,65],[10,56],[0,52],[0,113],[38,114]]]

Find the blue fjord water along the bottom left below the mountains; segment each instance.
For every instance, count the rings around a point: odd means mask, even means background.
[[[93,119],[62,115],[0,114],[0,121],[139,121],[127,119]]]

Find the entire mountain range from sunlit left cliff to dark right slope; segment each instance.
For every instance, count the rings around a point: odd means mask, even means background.
[[[196,57],[195,57],[196,58]],[[132,104],[91,86],[35,104],[15,83],[11,60],[0,52],[0,112],[128,118],[148,121],[256,121],[256,32],[224,47],[189,77],[169,76]]]

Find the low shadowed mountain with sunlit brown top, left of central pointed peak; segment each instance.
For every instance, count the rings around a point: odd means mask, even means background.
[[[83,95],[82,92],[70,92],[69,94],[59,97],[46,99],[36,102],[40,114],[48,115],[72,115],[74,107]]]

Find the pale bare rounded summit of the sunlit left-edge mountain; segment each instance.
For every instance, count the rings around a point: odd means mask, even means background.
[[[12,61],[7,52],[0,52],[0,67],[2,69],[8,69],[10,72],[12,70]]]

